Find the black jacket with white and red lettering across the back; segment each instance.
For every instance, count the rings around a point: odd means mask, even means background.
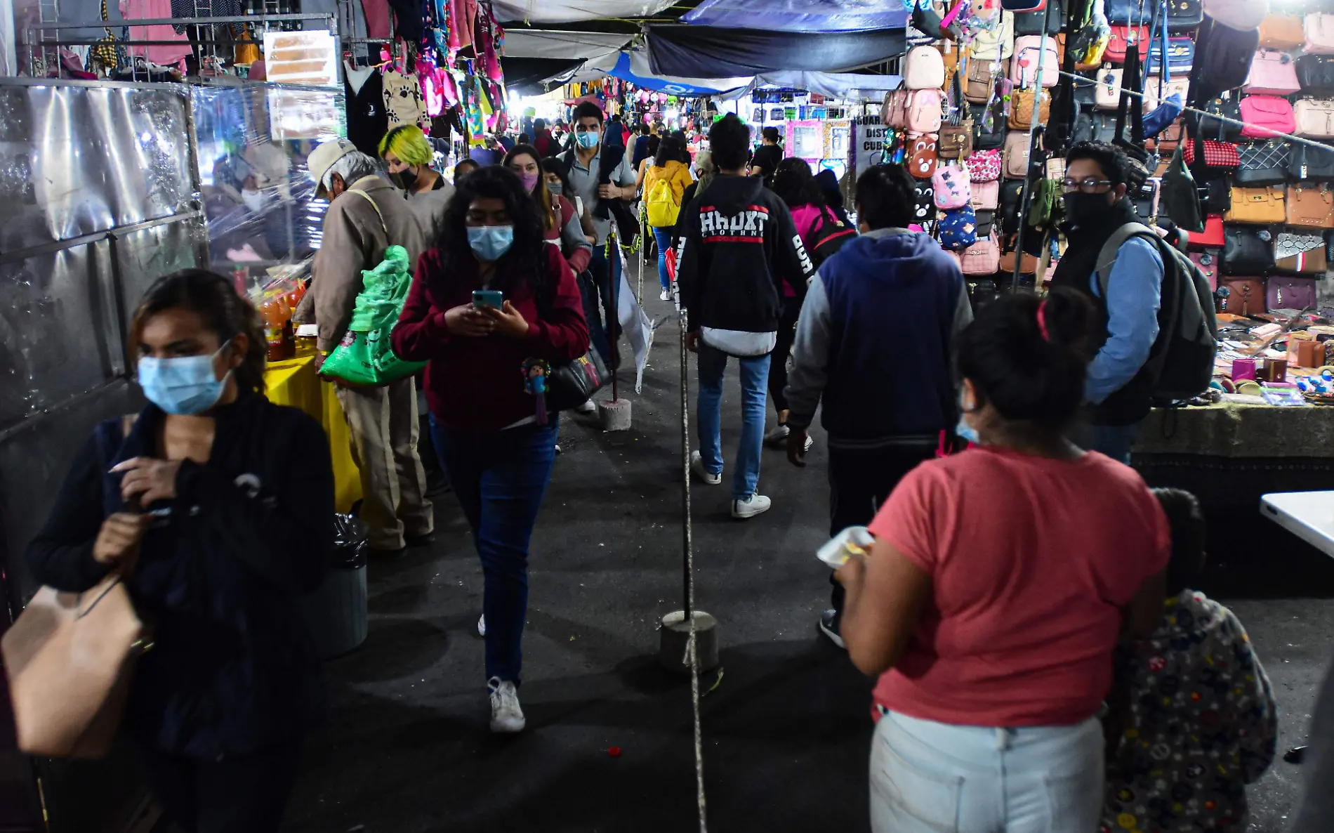
[[[815,272],[783,200],[758,176],[720,174],[676,223],[676,282],[690,330],[776,332],[783,280],[803,298]]]

